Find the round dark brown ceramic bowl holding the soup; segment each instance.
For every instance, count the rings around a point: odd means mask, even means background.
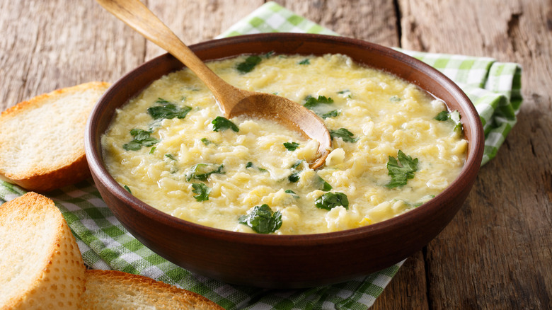
[[[429,243],[466,200],[483,156],[483,129],[475,108],[456,84],[432,67],[361,40],[272,33],[212,40],[190,47],[201,59],[243,53],[347,54],[441,98],[459,110],[468,139],[466,164],[430,202],[384,222],[327,234],[278,236],[213,229],[172,217],[130,195],[105,169],[100,136],[114,111],[152,81],[182,69],[164,54],[134,69],[100,99],[86,128],[86,158],[94,182],[115,217],[145,246],[176,265],[207,277],[258,287],[311,287],[343,282],[389,267]]]

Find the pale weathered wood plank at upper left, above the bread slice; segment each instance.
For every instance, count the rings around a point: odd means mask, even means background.
[[[60,10],[59,8],[63,8]],[[86,81],[115,81],[144,59],[144,40],[94,1],[1,1],[0,108]]]

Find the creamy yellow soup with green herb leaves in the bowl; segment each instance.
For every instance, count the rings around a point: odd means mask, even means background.
[[[268,120],[227,120],[188,69],[163,76],[117,110],[102,147],[118,183],[174,217],[260,234],[352,229],[419,207],[464,166],[457,112],[345,55],[242,55],[208,65],[238,88],[313,110],[332,150],[312,170],[317,141]]]

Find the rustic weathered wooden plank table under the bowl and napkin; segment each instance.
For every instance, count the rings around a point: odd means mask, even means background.
[[[464,207],[405,265],[374,309],[552,306],[552,2],[277,1],[342,35],[523,66],[519,122]],[[146,0],[192,44],[262,0]],[[0,1],[0,108],[92,80],[115,81],[161,54],[91,0]]]

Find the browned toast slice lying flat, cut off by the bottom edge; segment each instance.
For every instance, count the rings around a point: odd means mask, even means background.
[[[86,270],[86,292],[81,300],[81,309],[224,310],[194,292],[116,270]]]

